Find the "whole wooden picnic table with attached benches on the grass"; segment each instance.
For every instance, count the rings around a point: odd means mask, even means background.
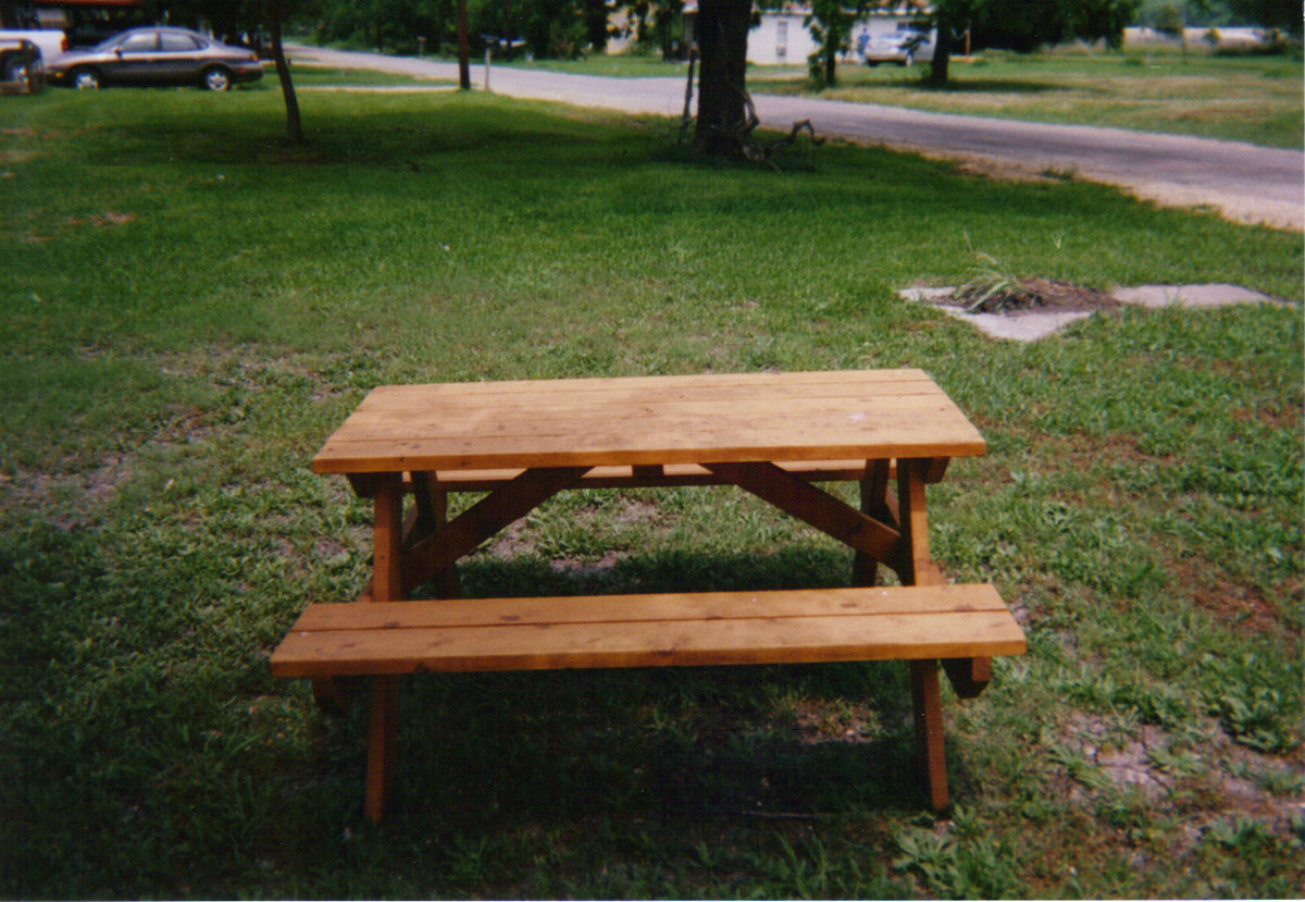
[[[938,662],[968,697],[988,658],[1024,641],[990,586],[945,586],[929,555],[925,486],[951,458],[983,453],[919,369],[380,386],[312,462],[372,499],[363,604],[312,606],[273,672],[313,677],[324,702],[335,677],[373,675],[367,813],[380,818],[397,674],[903,658],[941,808]],[[859,480],[859,506],[814,484],[826,479]],[[560,491],[675,484],[739,486],[847,544],[856,586],[873,586],[882,564],[906,589],[405,600],[422,585],[455,598],[457,561]],[[457,491],[488,495],[449,520]]]

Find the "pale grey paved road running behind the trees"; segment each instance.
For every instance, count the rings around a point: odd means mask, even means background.
[[[296,55],[339,68],[368,68],[457,80],[457,65],[411,57],[296,47]],[[484,67],[472,84],[484,86]],[[681,78],[604,78],[492,67],[489,89],[637,114],[679,116]],[[977,161],[1017,174],[1047,171],[1120,185],[1164,204],[1218,208],[1231,219],[1305,230],[1305,153],[1084,125],[1047,125],[921,112],[801,97],[753,98],[763,127],[787,131],[810,119],[817,133],[864,144]]]

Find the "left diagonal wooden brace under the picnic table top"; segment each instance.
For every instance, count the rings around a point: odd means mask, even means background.
[[[403,585],[411,590],[453,567],[499,530],[521,520],[557,492],[573,486],[590,467],[526,470],[463,510],[435,535],[412,544],[403,560]]]

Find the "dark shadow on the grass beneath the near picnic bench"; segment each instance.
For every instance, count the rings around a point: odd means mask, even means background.
[[[595,813],[817,818],[925,804],[904,666],[689,670],[424,676],[406,692],[395,813],[475,830]],[[820,692],[838,683],[872,689]],[[788,696],[814,717],[869,704],[881,727],[813,736],[773,709]]]

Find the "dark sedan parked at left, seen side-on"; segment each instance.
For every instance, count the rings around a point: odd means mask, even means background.
[[[89,50],[74,50],[46,63],[55,85],[198,85],[224,91],[262,78],[253,51],[174,27],[130,29]]]

